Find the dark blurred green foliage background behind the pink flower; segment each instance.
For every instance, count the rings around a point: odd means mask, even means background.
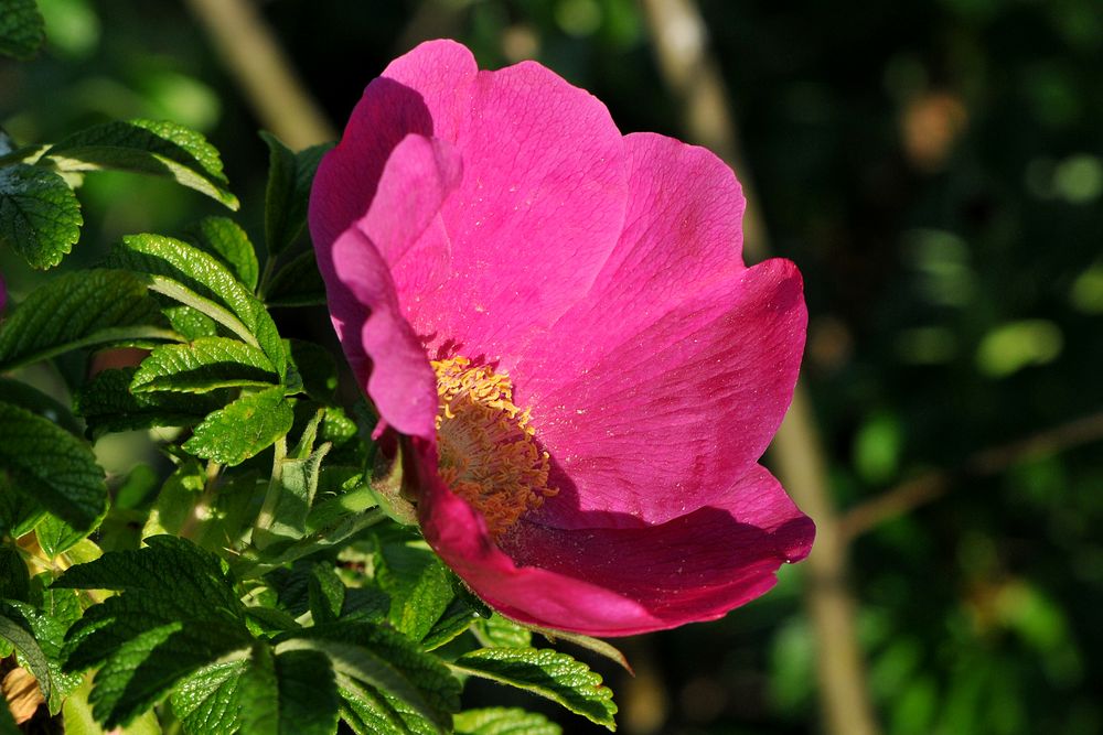
[[[802,393],[767,463],[821,537],[726,619],[614,641],[638,674],[597,664],[621,732],[1103,732],[1097,0],[40,4],[49,43],[0,62],[0,126],[20,143],[114,118],[192,126],[255,235],[256,130],[297,148],[334,136],[387,61],[442,35],[483,67],[537,58],[623,131],[733,163],[748,259],[805,278]],[[295,78],[271,76],[280,58]],[[219,214],[127,175],[79,196],[74,266]],[[40,275],[8,256],[21,298]],[[292,317],[328,328],[321,310]],[[469,689],[472,704],[506,695]]]

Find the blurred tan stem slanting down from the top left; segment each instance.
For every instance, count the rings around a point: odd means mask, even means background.
[[[271,29],[248,0],[185,0],[260,123],[292,150],[336,138]]]

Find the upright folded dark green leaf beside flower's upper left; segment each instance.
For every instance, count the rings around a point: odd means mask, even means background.
[[[307,223],[310,184],[325,151],[333,144],[313,145],[292,153],[275,136],[260,132],[268,144],[268,187],[265,191],[265,241],[277,256],[290,247]]]

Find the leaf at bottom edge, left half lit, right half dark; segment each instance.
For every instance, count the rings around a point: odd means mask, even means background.
[[[272,656],[267,645],[254,647],[242,681],[243,735],[331,735],[338,705],[333,668],[324,655]]]

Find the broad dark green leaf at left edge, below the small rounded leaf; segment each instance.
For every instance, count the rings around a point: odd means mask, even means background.
[[[140,275],[64,273],[34,290],[0,325],[0,370],[108,343],[172,339]]]

